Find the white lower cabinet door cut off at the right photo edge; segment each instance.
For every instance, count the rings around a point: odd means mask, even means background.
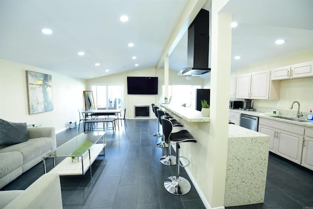
[[[305,128],[301,165],[313,170],[313,128]]]

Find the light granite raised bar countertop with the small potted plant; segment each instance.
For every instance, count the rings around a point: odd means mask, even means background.
[[[177,116],[181,117],[182,119],[188,121],[188,122],[210,122],[210,117],[202,117],[201,112],[194,110],[189,107],[182,107],[177,105],[171,105],[171,104],[161,104],[161,107],[163,107],[165,110],[169,110],[172,113],[176,114]]]

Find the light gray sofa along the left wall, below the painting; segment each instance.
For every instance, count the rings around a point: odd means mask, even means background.
[[[0,188],[40,163],[43,156],[56,149],[53,127],[27,128],[28,140],[0,146]]]

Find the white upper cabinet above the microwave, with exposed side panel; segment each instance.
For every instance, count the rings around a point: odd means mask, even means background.
[[[278,99],[279,93],[280,83],[270,82],[269,70],[237,76],[236,98]]]

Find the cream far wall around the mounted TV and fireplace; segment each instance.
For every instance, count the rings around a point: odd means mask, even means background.
[[[188,81],[184,76],[178,77],[178,71],[169,70],[169,85],[203,85],[203,79],[194,77]],[[127,94],[127,76],[154,76],[158,77],[158,94],[157,95],[128,95]],[[159,99],[162,94],[162,85],[164,85],[164,68],[147,68],[134,70],[109,76],[103,76],[99,78],[89,79],[87,81],[87,88],[90,88],[90,84],[112,84],[122,83],[124,84],[124,107],[126,108],[126,117],[134,118],[134,105],[150,105],[155,103],[159,105]],[[150,117],[155,118],[152,110],[150,110]]]

